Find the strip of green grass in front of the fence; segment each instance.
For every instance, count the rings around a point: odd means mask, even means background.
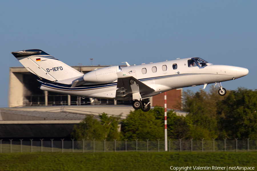
[[[170,166],[244,166],[257,152],[1,153],[0,170],[170,170]]]

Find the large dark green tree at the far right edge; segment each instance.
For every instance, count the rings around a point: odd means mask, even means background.
[[[257,90],[238,88],[220,102],[218,113],[223,136],[257,139]]]

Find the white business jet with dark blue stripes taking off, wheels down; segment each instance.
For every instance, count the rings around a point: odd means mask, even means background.
[[[109,66],[82,74],[42,50],[11,52],[41,83],[40,89],[82,98],[133,100],[134,109],[150,110],[149,97],[169,91],[221,82],[248,74],[248,69],[183,58],[130,66]]]

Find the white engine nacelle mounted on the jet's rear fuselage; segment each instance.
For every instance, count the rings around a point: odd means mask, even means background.
[[[90,71],[83,75],[83,79],[88,82],[109,83],[118,79],[116,72],[122,72],[121,66],[108,66]]]

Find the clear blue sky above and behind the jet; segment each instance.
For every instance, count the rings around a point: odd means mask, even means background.
[[[76,66],[200,57],[248,68],[226,89],[257,89],[257,1],[0,2],[0,107],[8,105],[13,51],[41,49]],[[190,89],[197,91],[202,86]],[[209,86],[206,88],[209,89]]]

